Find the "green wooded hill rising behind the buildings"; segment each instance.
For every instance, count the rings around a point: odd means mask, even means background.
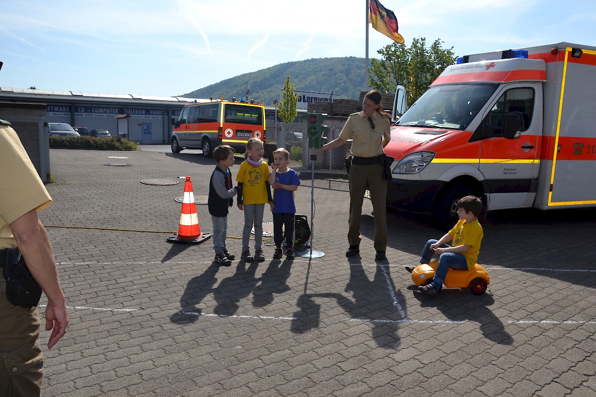
[[[221,98],[246,96],[246,84],[250,87],[249,99],[273,105],[280,96],[285,77],[297,90],[337,93],[336,98],[359,99],[365,90],[366,64],[364,58],[318,58],[296,62],[286,62],[266,69],[244,73],[219,83],[185,93],[187,98]]]

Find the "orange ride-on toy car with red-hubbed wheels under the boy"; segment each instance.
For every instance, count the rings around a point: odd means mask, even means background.
[[[421,264],[412,270],[412,282],[421,286],[433,282],[434,271],[439,265],[438,260],[430,264]],[[456,270],[449,268],[445,276],[445,287],[447,288],[467,288],[470,287],[474,295],[482,295],[491,283],[491,277],[481,265],[476,264],[474,270]]]

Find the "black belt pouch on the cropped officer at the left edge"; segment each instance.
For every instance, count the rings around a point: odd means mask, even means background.
[[[41,287],[27,268],[21,251],[18,248],[8,248],[4,250],[2,257],[6,258],[2,274],[6,280],[8,302],[20,307],[37,306],[41,298]]]

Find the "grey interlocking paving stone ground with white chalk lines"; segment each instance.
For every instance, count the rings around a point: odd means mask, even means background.
[[[375,262],[365,201],[361,257],[346,258],[342,181],[315,181],[313,249],[324,257],[271,260],[265,239],[265,262],[219,267],[211,240],[166,242],[178,230],[177,178],[191,176],[194,195],[207,195],[213,160],[187,151],[50,157],[54,204],[41,218],[70,324],[54,349],[44,346],[45,397],[596,394],[594,210],[491,214],[479,258],[488,293],[444,289],[432,299],[404,267],[445,230],[389,211],[389,259]],[[302,183],[297,212],[310,221],[311,180]],[[206,205],[197,212],[210,233]],[[237,257],[243,222],[231,208]]]

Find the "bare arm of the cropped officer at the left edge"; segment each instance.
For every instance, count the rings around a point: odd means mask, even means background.
[[[64,292],[58,280],[56,260],[48,233],[35,210],[14,220],[10,224],[10,229],[14,239],[17,240],[19,251],[25,258],[27,268],[48,297],[48,306],[45,309],[45,330],[52,330],[48,341],[48,349],[51,349],[64,336],[69,315]]]

